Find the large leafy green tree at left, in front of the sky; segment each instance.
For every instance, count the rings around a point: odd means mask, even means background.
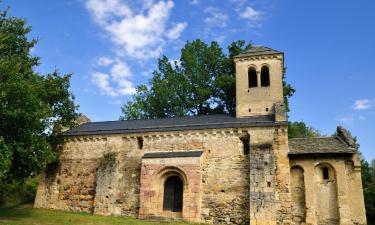
[[[53,127],[72,127],[77,116],[71,74],[35,72],[30,31],[25,20],[0,12],[0,181],[24,180],[53,162]]]

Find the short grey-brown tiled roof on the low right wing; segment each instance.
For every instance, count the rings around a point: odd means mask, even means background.
[[[356,153],[339,137],[292,138],[289,139],[289,155],[299,154],[345,154]]]

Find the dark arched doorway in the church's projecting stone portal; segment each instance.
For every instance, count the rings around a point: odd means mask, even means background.
[[[163,210],[182,211],[183,188],[183,182],[178,176],[171,176],[165,181]]]

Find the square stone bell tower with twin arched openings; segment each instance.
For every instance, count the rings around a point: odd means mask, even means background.
[[[275,115],[286,120],[283,98],[284,53],[254,46],[234,57],[236,117]]]

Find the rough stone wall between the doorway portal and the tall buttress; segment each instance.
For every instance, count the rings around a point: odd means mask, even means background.
[[[246,132],[246,131],[244,131]],[[249,156],[242,134],[215,134],[204,148],[202,217],[209,223],[249,223]]]

